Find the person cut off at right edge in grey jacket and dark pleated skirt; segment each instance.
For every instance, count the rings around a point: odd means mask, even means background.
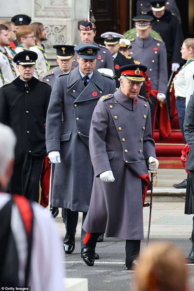
[[[194,75],[193,75],[194,79]],[[187,190],[185,197],[185,214],[194,214],[194,94],[191,95],[187,105],[184,119],[184,135],[190,147],[185,170],[189,170],[187,179]],[[194,263],[194,216],[193,229],[191,234],[192,248],[188,255],[188,263]]]

